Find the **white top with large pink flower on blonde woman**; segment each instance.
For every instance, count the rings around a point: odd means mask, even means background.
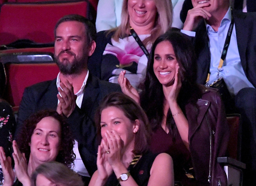
[[[143,41],[150,35],[138,35]],[[150,52],[151,44],[146,46]],[[118,42],[111,38],[103,52],[101,62],[101,79],[112,83],[118,83],[121,71],[126,70],[125,77],[133,87],[138,89],[146,76],[148,58],[141,50],[133,36],[119,39]]]

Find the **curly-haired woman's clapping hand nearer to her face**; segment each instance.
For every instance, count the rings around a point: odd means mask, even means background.
[[[12,156],[14,159],[14,168],[16,176],[23,185],[29,186],[30,177],[28,175],[28,163],[27,159],[25,158],[25,154],[20,152],[20,149],[18,148],[18,145],[15,140],[13,140],[12,142],[12,148]]]

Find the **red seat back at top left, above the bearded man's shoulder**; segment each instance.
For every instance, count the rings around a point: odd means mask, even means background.
[[[18,39],[53,42],[56,22],[68,14],[87,17],[87,5],[86,1],[3,4],[0,10],[0,45]]]

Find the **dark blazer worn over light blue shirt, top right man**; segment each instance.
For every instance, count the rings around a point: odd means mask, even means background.
[[[241,63],[247,79],[256,87],[256,13],[233,10],[236,39]],[[210,68],[211,53],[204,20],[195,30],[194,45],[197,57],[197,82],[205,84]]]

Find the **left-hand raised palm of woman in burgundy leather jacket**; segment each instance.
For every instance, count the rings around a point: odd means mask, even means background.
[[[122,89],[122,92],[134,99],[137,103],[140,104],[140,96],[138,91],[131,85],[130,81],[124,77],[126,71],[121,71],[118,77],[118,83]]]

